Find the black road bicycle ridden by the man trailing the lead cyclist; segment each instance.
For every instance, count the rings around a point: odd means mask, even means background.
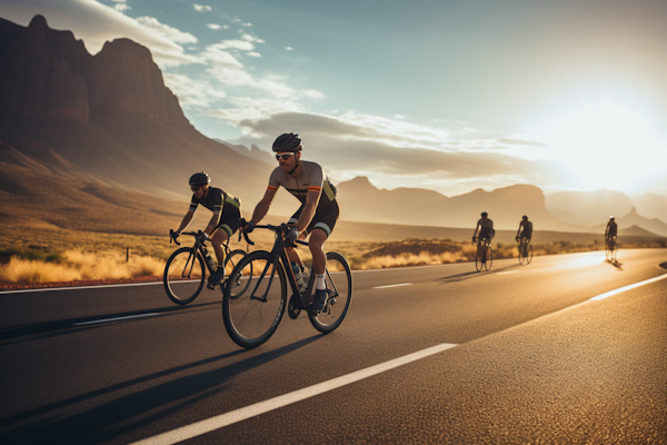
[[[206,241],[210,241],[203,236],[203,231],[183,231],[181,235],[189,235],[195,237],[195,245],[192,247],[181,247],[176,249],[173,254],[167,260],[165,266],[165,276],[162,281],[165,284],[165,290],[167,296],[177,305],[187,305],[192,301],[206,283],[206,271],[209,274],[216,271],[216,264],[208,253]],[[180,243],[175,239],[173,243],[180,246]],[[171,244],[171,241],[169,241]],[[222,245],[225,247],[225,269],[233,268],[245,256],[246,253],[241,249],[231,250],[229,248],[229,238],[227,243]],[[233,293],[241,291],[242,286],[247,281],[241,280],[241,276],[237,277],[236,281],[223,280],[220,284],[221,288],[229,283],[233,283],[231,290]],[[210,286],[207,283],[209,289],[215,289],[217,286]]]

